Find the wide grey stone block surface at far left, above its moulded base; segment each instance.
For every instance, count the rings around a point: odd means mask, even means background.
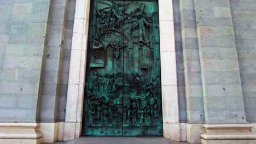
[[[0,122],[38,121],[49,5],[0,1]]]

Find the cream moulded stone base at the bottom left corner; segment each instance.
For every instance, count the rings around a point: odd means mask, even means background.
[[[38,123],[0,123],[0,143],[42,143]]]

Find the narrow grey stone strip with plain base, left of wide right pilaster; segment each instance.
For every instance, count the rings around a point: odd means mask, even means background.
[[[187,103],[187,141],[199,143],[205,122],[194,0],[180,0],[181,36]]]

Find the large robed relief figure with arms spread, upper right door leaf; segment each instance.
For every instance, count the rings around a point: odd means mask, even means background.
[[[139,27],[138,28],[139,29],[139,43],[141,46],[143,44],[147,44],[147,46],[149,46],[149,43],[150,43],[145,25],[149,26],[148,21],[144,18],[143,14],[139,14],[138,21],[133,26],[133,28]]]

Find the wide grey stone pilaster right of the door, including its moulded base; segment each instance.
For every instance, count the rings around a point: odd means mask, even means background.
[[[242,137],[236,143],[249,143],[255,136],[249,133],[245,116],[229,1],[195,0],[195,12],[206,123],[201,142]]]

